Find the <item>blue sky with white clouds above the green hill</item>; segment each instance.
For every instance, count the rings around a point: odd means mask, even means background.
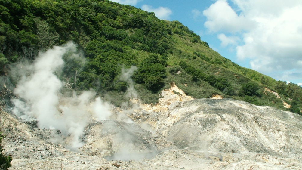
[[[302,0],[112,0],[180,21],[232,62],[302,85]]]

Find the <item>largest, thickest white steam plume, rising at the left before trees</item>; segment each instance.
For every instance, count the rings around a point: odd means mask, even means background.
[[[20,99],[13,99],[15,107],[12,112],[22,119],[35,118],[39,128],[58,129],[65,136],[73,137],[71,146],[79,147],[79,138],[84,133],[88,121],[106,120],[111,115],[109,104],[96,97],[94,91],[83,91],[80,95],[73,93],[71,97],[62,94],[64,82],[57,76],[64,66],[63,56],[76,53],[76,45],[69,42],[62,47],[55,46],[51,50],[39,53],[32,64],[22,66],[24,74],[18,81],[14,93]],[[96,98],[95,98],[96,97]]]

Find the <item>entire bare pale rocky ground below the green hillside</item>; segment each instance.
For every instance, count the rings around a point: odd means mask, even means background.
[[[110,120],[86,126],[79,148],[70,148],[70,136],[58,130],[20,120],[2,102],[10,169],[302,169],[300,115],[232,99],[193,99],[173,84],[161,96],[155,106],[132,100],[139,107],[112,107]]]

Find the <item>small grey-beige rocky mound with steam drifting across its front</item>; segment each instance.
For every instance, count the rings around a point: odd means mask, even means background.
[[[151,133],[135,123],[105,120],[89,124],[83,136],[81,151],[108,160],[140,160],[156,155]]]

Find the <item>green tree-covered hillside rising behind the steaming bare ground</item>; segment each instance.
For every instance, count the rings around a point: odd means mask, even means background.
[[[136,66],[134,88],[146,103],[156,102],[160,91],[175,82],[194,98],[218,94],[301,114],[300,86],[238,66],[178,21],[108,0],[0,2],[0,75],[7,88],[16,83],[10,78],[15,63],[33,62],[40,51],[72,41],[86,62],[66,56],[60,79],[76,91],[93,88],[117,105],[129,100],[129,81],[120,73]]]

